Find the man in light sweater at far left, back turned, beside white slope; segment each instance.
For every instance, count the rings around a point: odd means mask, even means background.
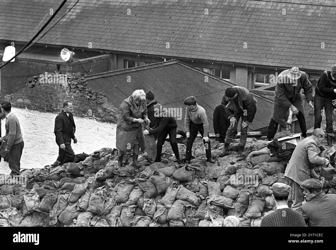
[[[20,175],[20,159],[24,147],[20,123],[15,114],[11,112],[9,102],[1,103],[1,111],[6,116],[6,135],[0,138],[0,141],[6,143],[6,158],[8,156],[8,165],[11,170],[10,175]]]

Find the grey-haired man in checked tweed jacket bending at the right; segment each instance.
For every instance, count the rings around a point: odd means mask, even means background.
[[[300,196],[303,189],[300,187],[302,181],[310,178],[318,179],[319,176],[313,170],[314,165],[328,165],[329,160],[318,156],[320,144],[324,139],[322,129],[315,129],[311,136],[303,139],[294,149],[291,159],[285,171],[285,177],[292,188],[292,209],[300,211],[303,199]]]

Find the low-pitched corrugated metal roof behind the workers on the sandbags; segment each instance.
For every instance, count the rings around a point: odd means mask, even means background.
[[[205,82],[206,78],[208,82]],[[105,94],[116,107],[120,107],[137,89],[152,91],[155,100],[165,107],[182,109],[182,119],[177,121],[182,130],[185,116],[183,101],[188,96],[195,96],[197,103],[207,112],[211,132],[215,107],[221,103],[225,89],[235,85],[177,60],[91,75],[85,79],[93,90]],[[256,93],[252,95],[258,103],[249,131],[256,131],[268,126],[274,102]]]

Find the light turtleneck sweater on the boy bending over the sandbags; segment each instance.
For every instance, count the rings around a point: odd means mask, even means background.
[[[204,136],[208,136],[208,125],[209,125],[208,118],[207,114],[205,113],[205,109],[203,107],[196,104],[196,108],[193,110],[185,108],[185,119],[184,119],[185,132],[190,131],[189,129],[190,121],[196,124],[203,123]]]

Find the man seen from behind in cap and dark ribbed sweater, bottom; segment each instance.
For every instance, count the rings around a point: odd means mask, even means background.
[[[288,208],[291,187],[277,182],[272,185],[272,188],[272,198],[275,199],[277,210],[262,218],[260,226],[306,226],[303,216]]]

